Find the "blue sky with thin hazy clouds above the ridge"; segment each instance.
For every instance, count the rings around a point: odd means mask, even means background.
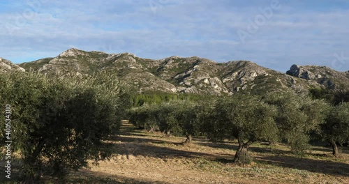
[[[75,47],[345,71],[348,18],[347,0],[5,0],[0,57],[22,63]]]

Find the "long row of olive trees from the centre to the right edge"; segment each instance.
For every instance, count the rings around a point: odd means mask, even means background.
[[[282,141],[295,153],[304,153],[314,132],[328,141],[333,155],[338,156],[336,144],[349,141],[349,103],[334,104],[326,98],[312,97],[286,91],[264,96],[235,94],[205,100],[173,99],[133,107],[128,117],[146,130],[185,135],[186,142],[195,135],[212,141],[237,139],[237,163],[251,161],[248,147],[255,141],[269,144]]]

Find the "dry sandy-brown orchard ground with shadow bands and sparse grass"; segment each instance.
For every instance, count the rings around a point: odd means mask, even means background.
[[[194,138],[193,144],[181,144],[184,137],[138,130],[127,122],[121,128],[110,140],[112,158],[73,172],[67,183],[349,183],[348,147],[333,158],[330,148],[320,146],[297,156],[283,144],[256,143],[250,149],[254,162],[238,166],[232,163],[235,141]]]

